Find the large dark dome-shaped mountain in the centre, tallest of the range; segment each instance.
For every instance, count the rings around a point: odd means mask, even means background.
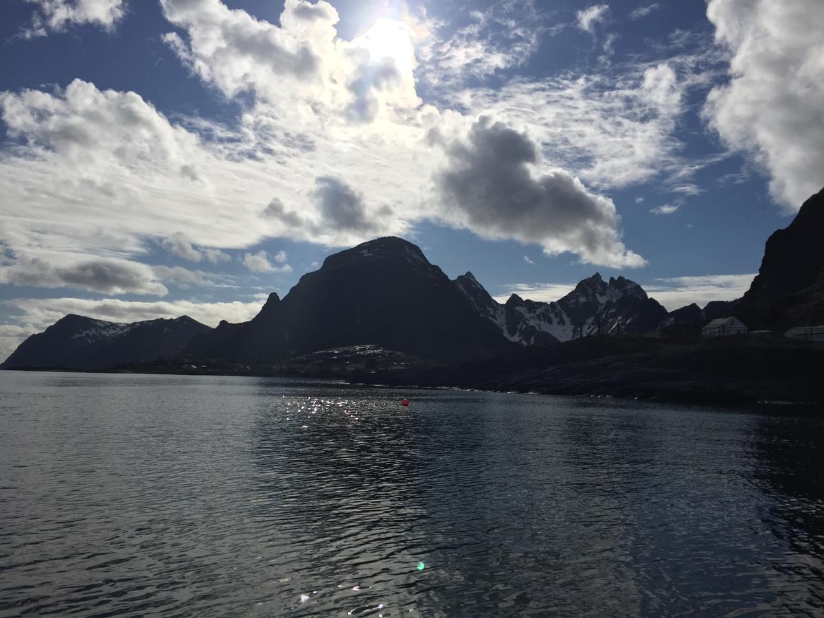
[[[265,364],[356,344],[443,360],[513,348],[417,246],[390,236],[330,255],[251,321],[222,323],[187,352]]]

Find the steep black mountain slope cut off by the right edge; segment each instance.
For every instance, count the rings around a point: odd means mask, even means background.
[[[735,309],[750,330],[824,323],[824,189],[766,242],[761,269]]]

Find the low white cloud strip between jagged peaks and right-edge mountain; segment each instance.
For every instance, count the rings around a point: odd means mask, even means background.
[[[755,274],[709,274],[703,276],[656,279],[643,286],[667,311],[675,311],[693,302],[705,307],[711,301],[732,301],[750,288]]]

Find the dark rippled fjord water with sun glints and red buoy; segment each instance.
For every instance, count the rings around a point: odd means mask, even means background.
[[[0,372],[0,616],[821,615],[822,437],[813,414]]]

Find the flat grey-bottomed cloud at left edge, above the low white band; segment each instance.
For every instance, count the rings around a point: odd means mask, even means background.
[[[40,257],[19,255],[14,264],[0,267],[0,283],[38,288],[76,288],[104,294],[152,294],[165,296],[147,265],[127,260],[78,260],[54,265]]]

